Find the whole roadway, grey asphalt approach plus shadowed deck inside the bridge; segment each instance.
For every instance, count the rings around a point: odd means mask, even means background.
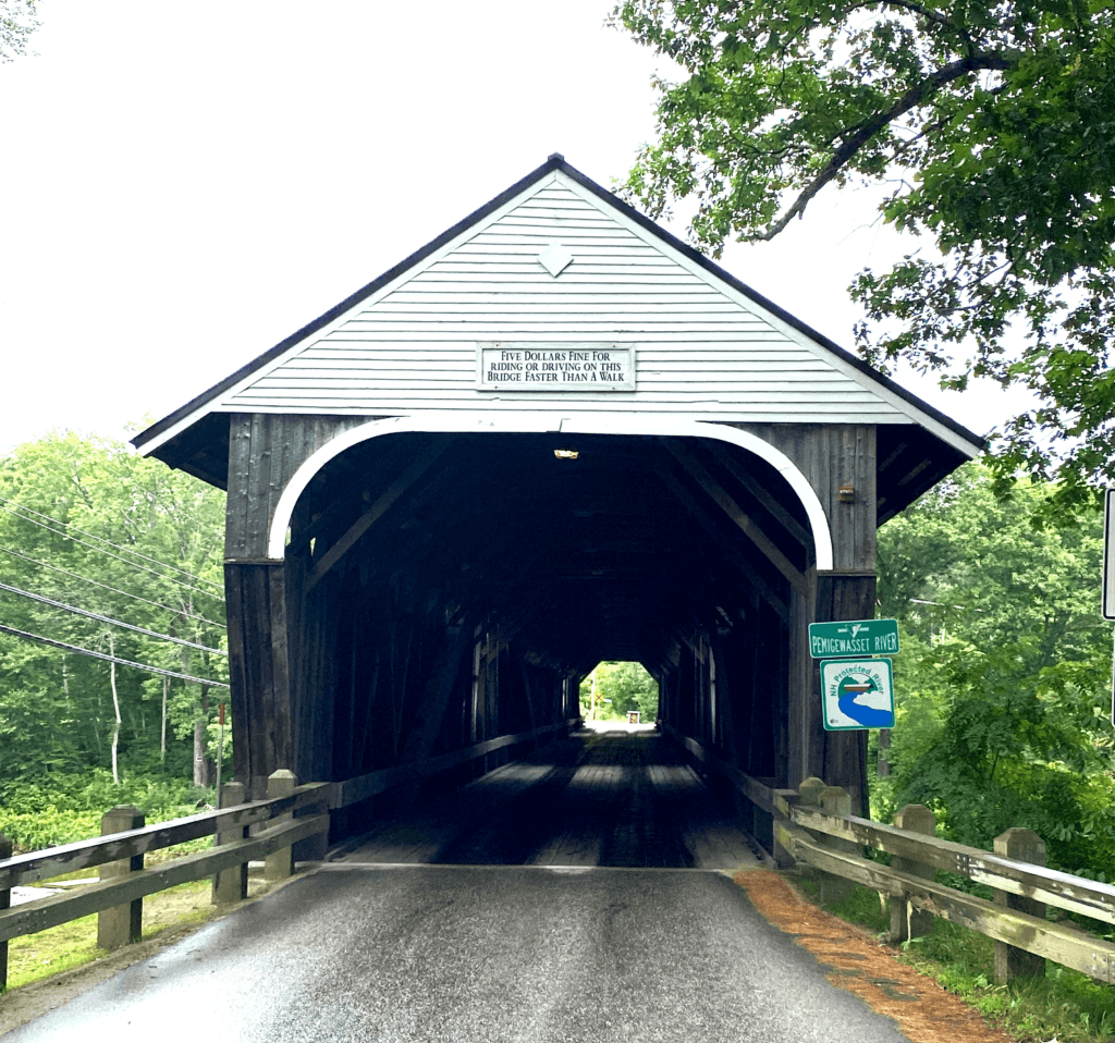
[[[4,1043],[905,1040],[719,871],[758,866],[669,743],[581,735]]]

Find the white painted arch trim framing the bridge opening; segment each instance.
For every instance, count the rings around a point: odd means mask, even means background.
[[[632,416],[630,413],[571,413],[565,417],[539,413],[468,413],[428,412],[406,417],[389,417],[384,420],[369,420],[359,427],[350,428],[336,438],[330,439],[306,462],[303,462],[287,484],[275,513],[271,519],[268,533],[268,558],[281,562],[285,556],[287,530],[290,527],[291,515],[298,498],[306,490],[311,479],[330,460],[340,456],[346,449],[351,449],[360,442],[384,435],[409,435],[444,432],[452,435],[466,433],[505,433],[536,435],[553,432],[555,435],[649,435],[687,438],[715,438],[718,441],[739,446],[748,452],[766,460],[789,482],[797,498],[805,508],[813,534],[813,545],[818,571],[833,567],[833,540],[828,528],[828,519],[813,486],[805,475],[798,470],[793,460],[784,452],[775,449],[769,442],[747,431],[740,431],[720,423],[709,423],[702,420],[683,420],[672,417]]]

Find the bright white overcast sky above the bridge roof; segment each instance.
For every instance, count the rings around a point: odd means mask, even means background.
[[[610,7],[40,0],[0,65],[0,451],[165,416],[550,153],[609,187],[670,71]],[[851,349],[847,284],[901,250],[822,194],[721,263]],[[978,432],[1007,415],[903,382]]]

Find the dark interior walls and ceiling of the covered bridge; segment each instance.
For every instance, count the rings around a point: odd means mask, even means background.
[[[575,718],[581,678],[633,660],[665,720],[773,777],[783,627],[811,556],[785,479],[724,442],[357,445],[302,494],[287,548],[299,773],[351,778]]]

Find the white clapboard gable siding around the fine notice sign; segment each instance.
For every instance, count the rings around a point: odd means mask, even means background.
[[[552,243],[573,256],[558,277],[539,262]],[[630,344],[636,390],[482,391],[476,351],[486,342]],[[560,172],[256,370],[217,408],[908,420],[870,378]]]

